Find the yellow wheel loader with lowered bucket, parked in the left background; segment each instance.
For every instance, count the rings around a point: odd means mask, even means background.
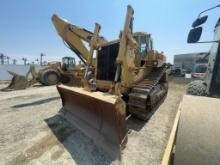
[[[77,66],[75,58],[63,57],[62,66],[60,62],[49,62],[38,72],[36,71],[34,65],[30,65],[30,68],[25,76],[8,71],[13,78],[8,87],[1,89],[1,91],[25,89],[37,82],[47,86],[55,85],[59,81],[62,81],[65,84],[79,85],[83,72],[83,66]]]

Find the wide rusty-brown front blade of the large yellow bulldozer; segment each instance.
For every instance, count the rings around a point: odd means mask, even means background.
[[[127,142],[126,105],[116,95],[57,85],[60,113],[112,157],[120,158]]]

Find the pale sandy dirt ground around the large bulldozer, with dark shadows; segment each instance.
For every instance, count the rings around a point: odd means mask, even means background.
[[[130,133],[121,161],[57,115],[61,99],[55,86],[0,92],[0,164],[160,164],[184,92],[185,84],[172,80],[148,122],[127,121]]]

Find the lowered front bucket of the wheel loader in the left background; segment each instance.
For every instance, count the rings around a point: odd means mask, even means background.
[[[28,80],[25,76],[18,75],[14,72],[8,71],[11,75],[13,75],[10,84],[6,87],[1,89],[1,91],[12,91],[12,90],[20,90],[25,89],[29,86]]]

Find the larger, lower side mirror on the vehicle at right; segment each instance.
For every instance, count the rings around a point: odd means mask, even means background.
[[[202,34],[202,27],[193,28],[190,30],[187,38],[187,43],[196,43],[199,41]]]

